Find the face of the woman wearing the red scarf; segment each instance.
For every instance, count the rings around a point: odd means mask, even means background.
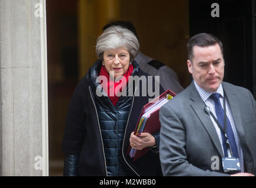
[[[103,62],[105,68],[107,69],[109,75],[114,76],[123,76],[129,68],[130,55],[127,49],[124,47],[111,49],[105,51],[103,54]]]

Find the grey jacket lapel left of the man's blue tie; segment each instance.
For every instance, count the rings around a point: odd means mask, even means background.
[[[191,107],[202,122],[202,125],[207,130],[208,134],[212,139],[212,143],[214,143],[215,147],[217,148],[218,152],[220,153],[221,157],[224,157],[222,152],[222,147],[220,143],[220,139],[218,138],[216,129],[211,121],[211,117],[205,112],[205,103],[201,99],[200,95],[198,94],[197,89],[195,88],[194,82],[191,83],[189,86],[190,92],[190,99],[191,99]]]

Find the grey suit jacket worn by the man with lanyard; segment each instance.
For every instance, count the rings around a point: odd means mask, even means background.
[[[222,82],[230,103],[245,172],[256,175],[256,102],[245,88]],[[159,156],[164,176],[225,176],[221,143],[194,82],[162,106]],[[217,160],[219,159],[219,161]],[[216,165],[220,162],[220,165]]]

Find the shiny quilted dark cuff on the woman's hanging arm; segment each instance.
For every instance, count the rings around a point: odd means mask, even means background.
[[[65,155],[64,176],[79,176],[79,156]]]

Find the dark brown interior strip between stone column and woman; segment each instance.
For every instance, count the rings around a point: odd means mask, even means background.
[[[61,153],[68,105],[79,80],[78,1],[46,1],[49,176],[63,174]]]

